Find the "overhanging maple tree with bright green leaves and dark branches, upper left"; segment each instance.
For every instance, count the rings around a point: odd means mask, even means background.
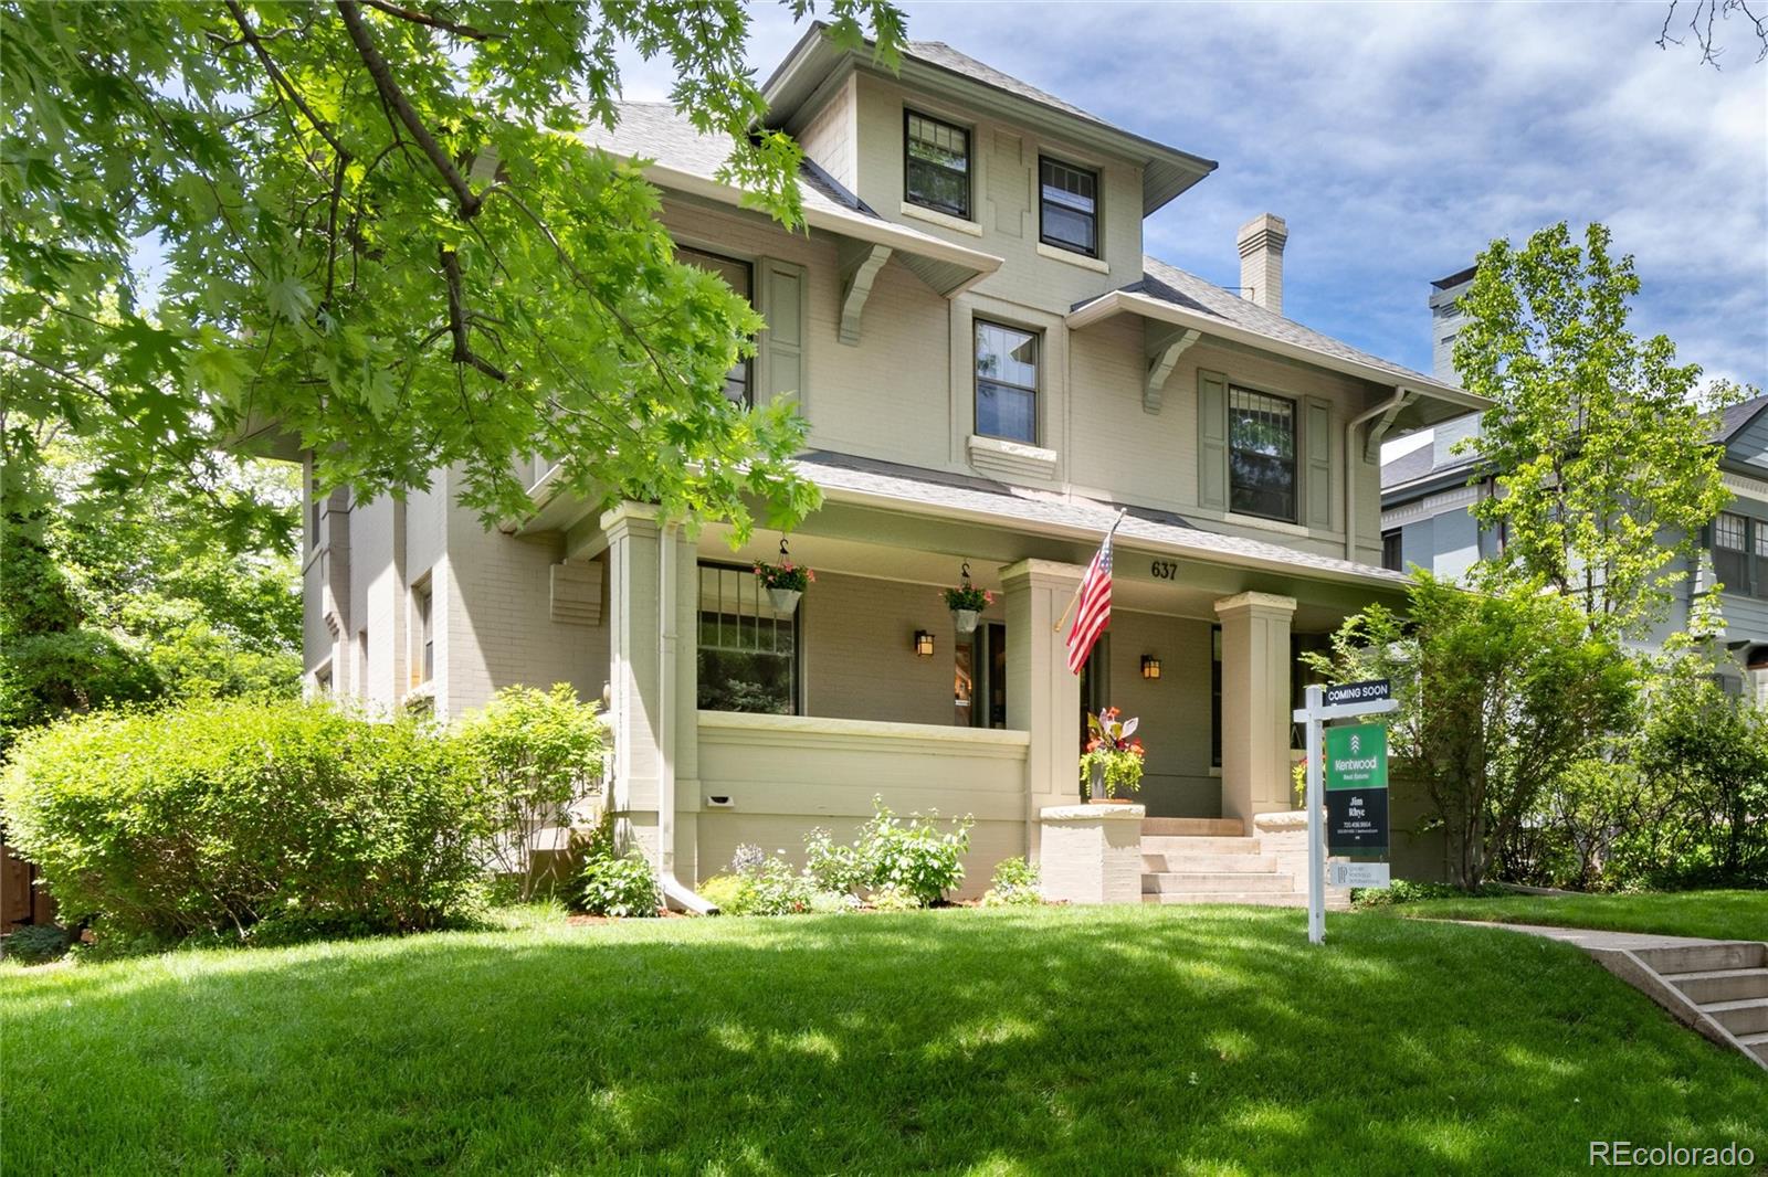
[[[812,0],[789,0],[803,18]],[[895,65],[900,16],[831,0]],[[789,403],[720,392],[758,316],[674,262],[658,193],[587,150],[617,48],[667,57],[725,175],[797,224],[799,148],[762,125],[737,0],[0,4],[0,433],[55,421],[97,482],[214,481],[279,429],[361,497],[463,474],[529,509],[514,454],[591,500],[743,534],[815,505]]]

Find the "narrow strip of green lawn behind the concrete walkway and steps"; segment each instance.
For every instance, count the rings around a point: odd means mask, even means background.
[[[1768,940],[1768,891],[1512,894],[1418,900],[1370,910],[1411,919],[1478,919],[1497,924],[1655,931],[1665,937],[1711,940]]]

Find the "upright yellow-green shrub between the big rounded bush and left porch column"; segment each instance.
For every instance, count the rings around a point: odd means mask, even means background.
[[[601,718],[562,682],[552,691],[506,687],[465,716],[451,739],[490,822],[479,831],[488,855],[514,880],[516,901],[527,903],[536,885],[557,882],[536,878],[530,834],[566,820],[571,804],[601,790]]]

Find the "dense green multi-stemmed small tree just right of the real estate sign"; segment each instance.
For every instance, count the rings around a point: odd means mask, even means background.
[[[1310,654],[1333,682],[1390,679],[1390,746],[1448,838],[1450,878],[1513,873],[1520,836],[1561,774],[1627,726],[1637,666],[1574,603],[1489,576],[1476,590],[1414,574],[1406,617],[1372,604]]]

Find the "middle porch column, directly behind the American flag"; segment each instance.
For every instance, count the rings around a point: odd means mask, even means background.
[[[1006,726],[1031,732],[1025,760],[1025,850],[1038,811],[1080,802],[1080,677],[1068,673],[1066,633],[1054,629],[1084,567],[1020,560],[1001,569],[1006,590]]]

